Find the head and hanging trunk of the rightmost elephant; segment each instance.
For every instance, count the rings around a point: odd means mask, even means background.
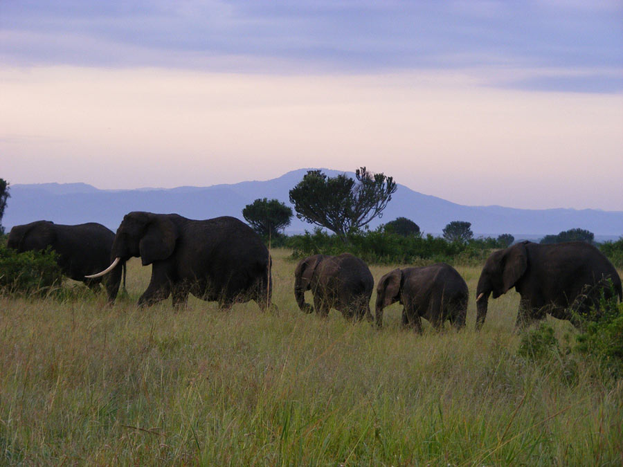
[[[505,250],[493,253],[482,268],[476,287],[476,329],[480,329],[487,316],[489,295],[494,298],[515,286],[527,270],[527,252],[523,241]]]

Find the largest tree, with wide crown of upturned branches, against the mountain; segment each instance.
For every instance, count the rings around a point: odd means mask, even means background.
[[[397,190],[393,178],[372,174],[365,167],[357,169],[355,177],[329,177],[320,170],[309,170],[290,190],[296,217],[327,228],[345,241],[375,217],[383,217],[383,209]]]

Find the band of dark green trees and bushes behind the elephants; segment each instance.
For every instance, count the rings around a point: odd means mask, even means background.
[[[345,174],[331,177],[320,170],[310,170],[290,190],[289,198],[296,217],[316,226],[312,232],[283,235],[282,230],[294,213],[276,199],[255,200],[246,205],[243,216],[264,238],[270,236],[273,246],[291,248],[294,257],[348,251],[370,263],[476,263],[482,262],[491,251],[507,248],[515,241],[509,233],[475,239],[467,221],[451,221],[443,229],[442,237],[423,235],[417,223],[406,217],[370,230],[368,224],[382,217],[396,190],[392,177],[372,174],[365,167],[356,170],[355,178]],[[594,237],[588,230],[575,228],[547,235],[541,243],[572,240],[594,243]],[[623,267],[623,239],[606,242],[602,247],[617,267]]]

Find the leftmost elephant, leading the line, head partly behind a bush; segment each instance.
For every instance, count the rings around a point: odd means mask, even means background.
[[[85,276],[101,271],[110,263],[114,238],[112,230],[96,222],[65,226],[52,221],[35,221],[14,226],[7,246],[18,253],[45,250],[49,246],[57,253],[64,275],[98,291],[102,279]],[[117,296],[122,270],[125,283],[125,262],[116,265],[112,274],[103,280],[109,302],[114,302]]]

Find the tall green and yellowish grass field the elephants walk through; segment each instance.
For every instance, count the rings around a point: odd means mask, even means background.
[[[273,251],[278,313],[137,309],[138,260],[113,307],[89,291],[1,297],[0,464],[623,464],[623,381],[519,357],[514,292],[473,331],[480,268],[458,268],[467,329],[417,336],[398,304],[381,331],[301,313],[287,255]],[[574,332],[552,324],[561,342]]]

